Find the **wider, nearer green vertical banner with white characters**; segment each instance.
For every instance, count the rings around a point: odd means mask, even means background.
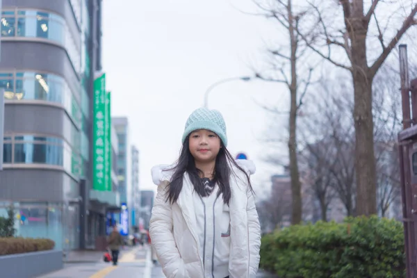
[[[94,81],[93,115],[93,169],[92,188],[106,190],[106,74],[101,73]]]

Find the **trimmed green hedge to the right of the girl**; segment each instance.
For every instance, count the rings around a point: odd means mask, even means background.
[[[260,266],[280,278],[405,277],[402,222],[373,216],[287,227],[263,236]]]

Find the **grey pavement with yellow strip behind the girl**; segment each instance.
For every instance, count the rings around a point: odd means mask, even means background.
[[[70,263],[63,270],[38,278],[165,278],[160,265],[153,265],[147,247],[136,247],[122,255],[117,266],[111,263]],[[274,276],[262,272],[259,278]]]

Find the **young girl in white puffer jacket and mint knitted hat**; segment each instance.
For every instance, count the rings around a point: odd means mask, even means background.
[[[173,167],[152,168],[158,193],[149,233],[164,274],[256,277],[261,230],[249,177],[254,164],[231,157],[218,111],[194,111],[182,142]]]

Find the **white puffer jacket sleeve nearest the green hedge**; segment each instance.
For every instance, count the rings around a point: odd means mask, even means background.
[[[259,224],[258,213],[256,211],[254,195],[247,189],[247,228],[249,237],[249,277],[256,277],[259,268],[259,254],[261,248],[261,225]]]

